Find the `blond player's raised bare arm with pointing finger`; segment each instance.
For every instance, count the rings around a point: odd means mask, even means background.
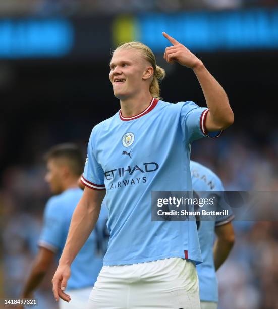
[[[178,62],[192,69],[198,78],[209,109],[206,130],[212,132],[228,128],[234,122],[234,113],[224,89],[190,50],[167,33],[163,32],[163,36],[173,44],[165,49],[164,59],[168,63]]]

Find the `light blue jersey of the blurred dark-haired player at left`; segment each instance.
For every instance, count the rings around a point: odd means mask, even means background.
[[[46,204],[39,246],[57,253],[58,260],[66,243],[73,212],[82,194],[83,191],[79,188],[68,189],[51,197]],[[104,256],[102,250],[102,241],[104,240],[96,230],[102,232],[106,226],[106,217],[107,210],[103,205],[96,229],[92,231],[71,265],[71,277],[67,289],[94,285]]]

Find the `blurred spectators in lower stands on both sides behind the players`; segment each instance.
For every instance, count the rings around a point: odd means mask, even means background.
[[[199,141],[193,159],[210,166],[229,190],[277,190],[277,153],[246,144],[232,135]],[[246,137],[245,137],[246,138]],[[196,148],[196,149],[195,149]],[[43,149],[41,149],[43,150]],[[204,156],[207,153],[207,156]],[[3,173],[0,191],[2,276],[4,294],[17,297],[37,250],[44,204],[49,197],[40,160],[31,166],[12,165]],[[270,187],[268,187],[270,185]],[[218,271],[219,308],[274,309],[277,307],[278,226],[276,222],[234,222],[236,244]],[[54,266],[53,266],[54,267]],[[54,269],[53,269],[54,271]],[[41,308],[55,307],[49,275],[39,289]]]

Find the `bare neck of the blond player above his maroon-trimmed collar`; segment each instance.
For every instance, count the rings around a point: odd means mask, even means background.
[[[121,99],[121,113],[124,117],[132,117],[143,112],[152,100],[151,94],[139,93],[132,98]]]

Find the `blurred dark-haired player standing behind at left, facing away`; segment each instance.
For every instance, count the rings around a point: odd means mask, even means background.
[[[31,298],[54,258],[60,258],[66,242],[73,211],[83,191],[77,180],[83,171],[84,161],[80,149],[74,144],[60,144],[46,154],[46,181],[55,196],[46,204],[43,216],[43,229],[39,238],[39,251],[31,272],[24,285],[22,298]],[[72,301],[61,301],[60,308],[80,309],[86,306],[90,291],[102,267],[103,253],[98,239],[106,225],[105,208],[96,225],[100,235],[94,230],[76,256],[71,266],[72,276],[68,281],[68,291]]]

